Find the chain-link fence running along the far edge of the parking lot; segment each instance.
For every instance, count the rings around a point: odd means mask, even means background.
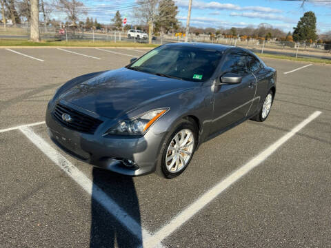
[[[51,28],[40,27],[41,39],[54,41],[110,41],[110,42],[130,42],[130,43],[148,43],[148,39],[129,38],[128,32],[114,30],[94,30],[92,28]],[[19,27],[7,27],[4,30],[0,28],[0,39],[28,39],[30,28],[26,25]],[[152,43],[165,44],[183,42],[183,35],[163,34],[152,37]],[[276,41],[265,39],[234,39],[222,36],[214,37],[208,34],[190,34],[190,42],[217,43],[224,45],[234,45],[247,48],[256,53],[279,54],[296,57],[313,57],[318,59],[331,59],[331,43],[305,43],[292,41]]]

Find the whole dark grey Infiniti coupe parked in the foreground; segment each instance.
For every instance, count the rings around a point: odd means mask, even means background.
[[[203,141],[247,119],[265,121],[276,81],[276,70],[242,48],[161,45],[124,68],[62,85],[48,103],[48,134],[94,166],[174,178]]]

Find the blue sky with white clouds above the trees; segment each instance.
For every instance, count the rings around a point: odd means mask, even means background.
[[[83,0],[89,8],[89,17],[97,18],[100,23],[110,23],[118,9],[128,24],[135,24],[132,6],[137,0]],[[188,0],[174,0],[179,7],[177,19],[186,25]],[[313,11],[317,17],[317,32],[331,30],[331,1],[325,0],[305,3],[300,1],[279,0],[192,0],[190,25],[199,28],[243,28],[248,25],[257,27],[268,23],[274,28],[293,31],[304,12]],[[81,17],[81,19],[84,19]]]

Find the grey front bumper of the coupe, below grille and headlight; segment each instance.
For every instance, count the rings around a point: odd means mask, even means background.
[[[149,130],[144,136],[101,136],[98,127],[94,134],[85,134],[61,125],[46,112],[46,125],[51,140],[64,152],[96,167],[128,176],[139,176],[154,172],[163,134]],[[130,159],[137,164],[128,167],[120,160]]]

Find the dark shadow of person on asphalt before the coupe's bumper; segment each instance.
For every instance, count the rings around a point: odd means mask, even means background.
[[[97,167],[93,168],[92,196],[97,187],[112,198],[117,205],[126,211],[141,226],[139,201],[134,182],[130,176],[121,176]],[[96,187],[97,186],[97,187]],[[141,228],[133,235],[126,227],[104,209],[92,197],[91,202],[90,247],[139,247]]]

